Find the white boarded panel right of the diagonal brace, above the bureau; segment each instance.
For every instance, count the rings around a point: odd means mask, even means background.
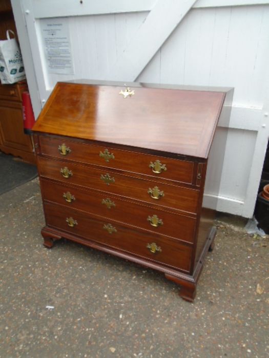
[[[268,6],[193,9],[161,47],[160,81],[233,86],[235,104],[261,108],[268,33]],[[152,65],[140,81],[156,82]]]

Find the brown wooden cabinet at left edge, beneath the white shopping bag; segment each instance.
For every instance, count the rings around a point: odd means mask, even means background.
[[[0,150],[35,163],[32,140],[24,134],[22,93],[26,83],[0,85]]]

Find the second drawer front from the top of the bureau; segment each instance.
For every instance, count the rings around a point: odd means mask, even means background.
[[[67,168],[72,173],[68,178],[63,177],[61,169]],[[75,184],[87,188],[106,191],[128,198],[143,200],[151,204],[171,207],[189,213],[196,213],[198,207],[199,191],[174,185],[155,183],[132,176],[117,174],[91,167],[84,167],[67,162],[38,158],[40,176],[55,179],[66,184]],[[102,179],[101,179],[102,178]],[[106,181],[111,183],[106,184]],[[152,190],[158,187],[163,196],[152,198]],[[151,190],[150,190],[151,189]]]

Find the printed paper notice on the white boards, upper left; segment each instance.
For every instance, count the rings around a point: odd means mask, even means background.
[[[68,23],[57,19],[41,21],[48,72],[74,74]]]

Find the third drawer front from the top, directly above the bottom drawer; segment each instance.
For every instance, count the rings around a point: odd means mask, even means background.
[[[131,203],[106,192],[85,191],[46,180],[41,180],[40,185],[43,198],[50,202],[183,241],[194,241],[195,218]]]

